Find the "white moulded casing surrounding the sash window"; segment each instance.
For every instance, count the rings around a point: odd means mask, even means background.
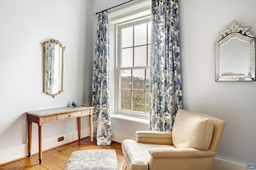
[[[109,26],[110,26],[110,112],[111,115],[126,115],[130,117],[138,117],[143,119],[148,119],[149,114],[139,112],[139,111],[126,111],[118,109],[118,92],[119,89],[119,78],[118,74],[118,41],[117,32],[118,26],[131,24],[132,22],[141,22],[142,20],[151,20],[151,0],[145,0],[139,2],[138,4],[128,6],[124,9],[109,12],[108,14]],[[148,58],[149,60],[150,58]],[[147,66],[149,68],[149,66]],[[145,76],[146,77],[146,76]]]

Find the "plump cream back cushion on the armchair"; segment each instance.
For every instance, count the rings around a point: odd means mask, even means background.
[[[198,113],[179,109],[172,128],[172,142],[176,148],[209,149],[213,121]]]

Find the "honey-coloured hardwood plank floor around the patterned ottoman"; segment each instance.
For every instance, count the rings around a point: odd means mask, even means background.
[[[67,145],[56,147],[43,152],[42,163],[39,164],[38,154],[33,154],[30,158],[26,157],[14,162],[0,166],[0,170],[63,170],[72,152],[76,150],[88,149],[114,149],[118,158],[119,170],[122,170],[124,156],[120,143],[112,141],[110,146],[97,145],[96,139],[91,145],[90,137],[75,141]]]

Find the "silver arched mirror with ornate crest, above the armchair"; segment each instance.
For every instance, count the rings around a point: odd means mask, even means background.
[[[255,37],[233,21],[215,41],[216,81],[255,81]]]

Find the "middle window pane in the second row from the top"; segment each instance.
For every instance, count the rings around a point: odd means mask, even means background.
[[[147,47],[146,45],[134,47],[134,66],[146,66],[147,62]]]

